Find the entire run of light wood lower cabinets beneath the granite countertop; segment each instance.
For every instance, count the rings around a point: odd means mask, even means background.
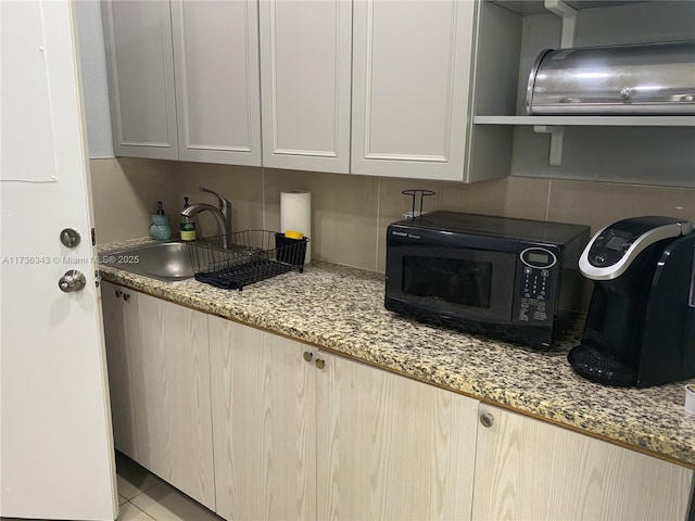
[[[131,290],[102,295],[116,448],[226,519],[688,514],[684,467]]]

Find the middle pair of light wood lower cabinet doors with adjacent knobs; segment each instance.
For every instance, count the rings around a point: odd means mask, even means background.
[[[217,513],[469,519],[477,402],[210,318]]]

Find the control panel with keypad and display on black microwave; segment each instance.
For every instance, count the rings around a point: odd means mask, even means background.
[[[517,295],[514,321],[552,322],[558,272],[557,254],[545,246],[525,247],[517,260]]]

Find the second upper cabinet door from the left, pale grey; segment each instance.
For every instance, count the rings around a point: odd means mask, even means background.
[[[172,26],[179,157],[261,166],[256,2],[173,1]]]

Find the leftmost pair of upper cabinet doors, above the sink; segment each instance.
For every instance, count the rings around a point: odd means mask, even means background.
[[[261,166],[257,3],[103,5],[116,155]]]

